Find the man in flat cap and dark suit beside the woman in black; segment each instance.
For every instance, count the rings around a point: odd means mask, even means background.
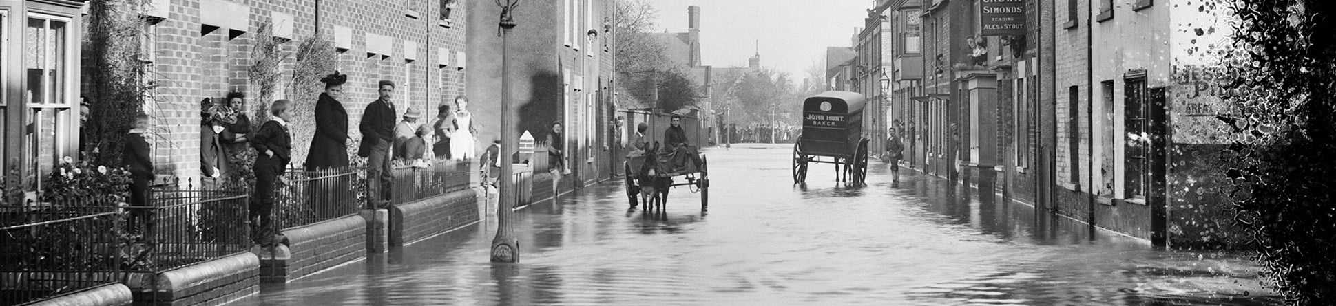
[[[393,179],[390,162],[394,156],[391,150],[394,144],[394,103],[391,102],[394,82],[381,80],[378,88],[381,99],[366,104],[366,110],[362,111],[362,123],[358,124],[358,130],[362,131],[362,146],[357,155],[367,158],[369,179],[379,190],[379,199],[389,200],[390,180]]]

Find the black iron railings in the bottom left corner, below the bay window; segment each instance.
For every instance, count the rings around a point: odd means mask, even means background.
[[[120,214],[110,196],[0,206],[0,305],[20,305],[122,278]]]

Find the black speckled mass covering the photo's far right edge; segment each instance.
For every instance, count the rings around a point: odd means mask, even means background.
[[[1237,32],[1218,82],[1230,94],[1221,168],[1234,219],[1285,302],[1336,301],[1336,3],[1233,0],[1232,9]]]

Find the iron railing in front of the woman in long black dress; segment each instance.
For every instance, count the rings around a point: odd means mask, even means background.
[[[275,228],[287,230],[355,215],[367,200],[365,168],[289,170],[275,190]]]

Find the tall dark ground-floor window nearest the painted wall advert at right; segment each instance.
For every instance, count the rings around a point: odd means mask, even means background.
[[[1126,126],[1126,139],[1124,140],[1124,160],[1128,164],[1124,176],[1124,191],[1126,199],[1145,198],[1150,151],[1149,128],[1146,127],[1146,79],[1128,79],[1124,92],[1124,124]]]

